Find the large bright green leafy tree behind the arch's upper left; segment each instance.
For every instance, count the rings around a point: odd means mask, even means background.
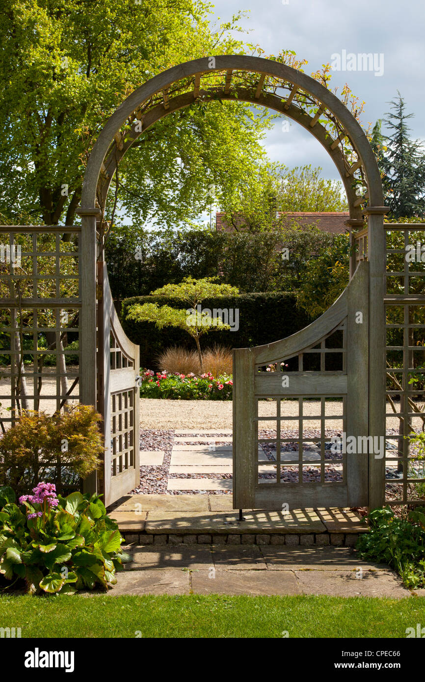
[[[0,212],[12,221],[27,213],[32,222],[72,224],[88,155],[115,108],[172,65],[245,51],[233,37],[240,15],[211,28],[209,12],[202,0],[4,0]],[[191,220],[203,208],[194,197],[226,178],[226,152],[230,175],[238,157],[249,167],[263,153],[267,116],[248,105],[194,104],[169,118],[120,166],[119,200],[138,220]]]

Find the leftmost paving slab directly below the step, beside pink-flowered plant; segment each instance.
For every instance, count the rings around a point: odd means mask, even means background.
[[[126,550],[132,561],[124,564],[126,571],[134,569],[209,569],[213,564],[208,545],[136,546]]]

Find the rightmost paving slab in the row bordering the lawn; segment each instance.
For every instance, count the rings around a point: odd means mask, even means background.
[[[409,597],[400,578],[392,571],[364,571],[362,578],[347,571],[295,571],[305,595],[329,597]]]

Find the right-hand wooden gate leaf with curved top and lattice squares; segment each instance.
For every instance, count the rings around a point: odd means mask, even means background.
[[[364,261],[311,325],[233,351],[235,509],[368,504],[368,281]]]

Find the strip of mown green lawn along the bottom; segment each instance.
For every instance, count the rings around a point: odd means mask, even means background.
[[[0,627],[23,638],[405,638],[416,623],[425,597],[0,597]]]

